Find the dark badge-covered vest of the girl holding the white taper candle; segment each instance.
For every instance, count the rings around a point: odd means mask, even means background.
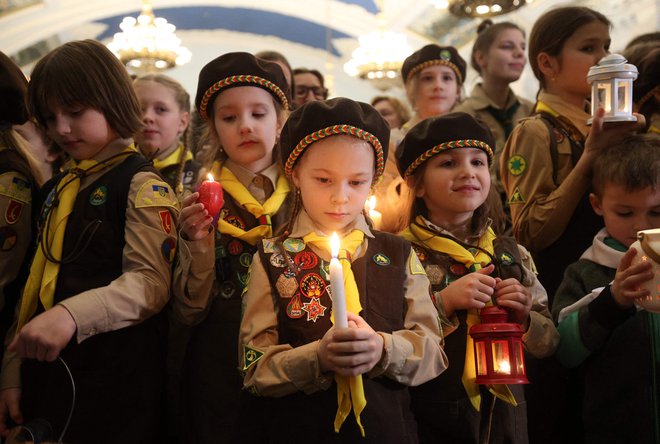
[[[410,244],[391,234],[375,232],[374,235],[375,238],[368,240],[366,254],[353,261],[351,268],[360,293],[360,316],[375,331],[391,333],[405,329],[407,307],[402,287],[409,266]],[[299,242],[294,245],[302,246],[301,239],[296,241]],[[259,246],[260,258],[277,295],[275,309],[280,343],[293,347],[321,339],[332,326],[328,262],[307,246],[301,251],[296,250],[298,248],[291,248],[291,239],[276,244],[268,252],[263,244]],[[386,256],[389,264],[379,265],[374,259],[378,254]],[[292,285],[291,279],[297,285]],[[302,303],[300,312],[297,311],[296,298]],[[367,406],[361,420],[366,439],[360,436],[352,413],[340,433],[334,432],[337,388],[333,383],[330,389],[310,395],[300,392],[283,398],[263,398],[271,404],[266,410],[269,416],[264,418],[269,424],[270,442],[417,442],[408,388],[385,376],[371,379],[363,375],[363,382]],[[286,426],[287,423],[290,427]]]

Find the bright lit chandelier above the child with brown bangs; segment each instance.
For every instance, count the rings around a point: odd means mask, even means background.
[[[151,0],[142,0],[138,18],[124,17],[119,27],[122,32],[115,34],[108,49],[137,73],[165,71],[188,63],[192,57],[174,34],[176,27],[162,17],[154,17]]]

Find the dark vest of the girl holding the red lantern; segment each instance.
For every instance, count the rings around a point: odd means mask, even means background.
[[[465,265],[455,261],[449,255],[413,244],[424,269],[431,281],[433,293],[443,290],[453,281],[470,273]],[[520,251],[514,238],[497,237],[493,241],[493,261],[495,270],[492,277],[501,279],[515,278],[525,280]],[[412,404],[415,417],[420,426],[420,440],[431,442],[447,439],[447,442],[478,443],[481,431],[487,421],[492,395],[481,390],[481,412],[471,406],[461,377],[465,366],[465,347],[467,344],[467,311],[457,310],[458,328],[445,337],[444,350],[449,360],[449,367],[437,378],[411,388]],[[527,442],[526,413],[524,391],[521,385],[510,385],[518,407],[503,401],[497,401],[493,414],[492,441],[489,442]],[[524,436],[524,439],[523,439]]]

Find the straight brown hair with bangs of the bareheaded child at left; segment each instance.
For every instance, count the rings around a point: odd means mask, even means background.
[[[45,128],[55,106],[99,111],[120,137],[142,128],[140,102],[119,59],[95,40],[65,43],[46,54],[32,71],[27,102]]]

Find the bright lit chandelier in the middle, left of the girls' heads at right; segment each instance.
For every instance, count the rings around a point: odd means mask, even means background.
[[[381,8],[382,9],[382,8]],[[405,34],[386,31],[385,18],[378,13],[378,30],[361,36],[360,46],[344,64],[344,71],[352,77],[368,80],[385,91],[400,84],[401,65],[412,53]]]

